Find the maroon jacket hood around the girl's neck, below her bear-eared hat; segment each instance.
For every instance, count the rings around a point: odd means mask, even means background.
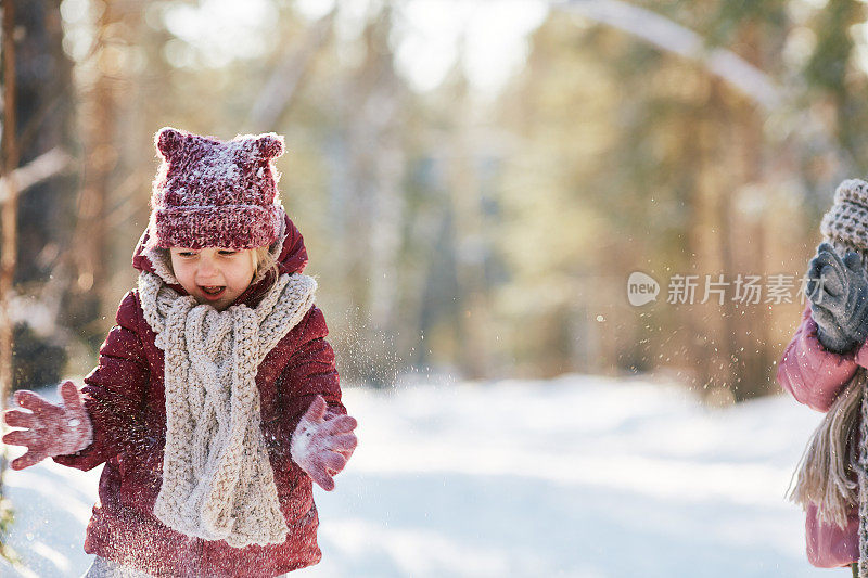
[[[187,291],[175,279],[171,269],[165,262],[165,258],[161,258],[161,249],[148,248],[149,241],[150,231],[145,229],[132,254],[132,267],[139,272],[146,271],[157,274],[180,295],[188,295]],[[278,240],[271,244],[270,251],[277,260],[279,274],[301,273],[307,266],[307,248],[305,247],[304,237],[285,210],[283,210],[283,223],[278,234]],[[163,249],[162,254],[165,255],[165,252],[167,249]],[[273,272],[270,271],[263,277],[257,274],[253,283],[232,305],[245,304],[255,306],[271,287],[275,279]]]

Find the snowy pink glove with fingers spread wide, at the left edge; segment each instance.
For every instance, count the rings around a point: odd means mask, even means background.
[[[12,461],[12,470],[24,470],[46,458],[75,453],[93,439],[93,427],[75,384],[65,382],[58,386],[58,391],[63,399],[59,406],[26,389],[15,391],[15,402],[30,411],[3,412],[7,424],[25,428],[3,436],[4,444],[27,447],[24,455]]]

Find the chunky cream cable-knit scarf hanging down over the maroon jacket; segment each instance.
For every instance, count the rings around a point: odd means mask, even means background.
[[[259,363],[314,304],[314,278],[280,275],[261,303],[217,311],[139,275],[144,318],[165,356],[166,448],[154,515],[233,548],[288,536],[259,429]]]

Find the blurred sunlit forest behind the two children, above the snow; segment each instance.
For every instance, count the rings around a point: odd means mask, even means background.
[[[868,168],[855,0],[2,5],[15,387],[94,364],[163,126],[285,136],[339,371],[380,387],[665,372],[715,403],[774,393],[819,218]],[[656,301],[630,305],[634,271]],[[694,304],[666,303],[674,274],[699,275]],[[700,304],[705,275],[792,286]]]

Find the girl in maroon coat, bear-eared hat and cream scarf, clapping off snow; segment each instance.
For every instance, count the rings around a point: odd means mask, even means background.
[[[138,287],[99,367],[62,403],[31,391],[3,441],[105,464],[85,576],[268,577],[316,564],[311,480],[356,447],[307,252],[278,198],[275,133],[221,142],[173,128],[133,256]]]

